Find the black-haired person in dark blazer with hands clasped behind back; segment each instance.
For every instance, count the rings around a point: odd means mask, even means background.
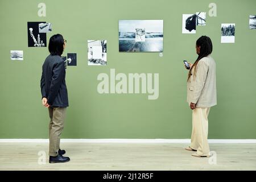
[[[49,39],[50,55],[43,64],[41,77],[42,104],[49,110],[49,163],[64,163],[70,159],[60,150],[60,135],[64,127],[68,107],[68,91],[65,83],[65,63],[61,59],[67,40],[60,34]]]

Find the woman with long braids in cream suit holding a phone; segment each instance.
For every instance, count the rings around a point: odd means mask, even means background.
[[[208,114],[210,107],[217,104],[216,65],[210,56],[212,41],[201,36],[196,41],[198,55],[194,64],[190,64],[187,79],[187,102],[192,109],[191,146],[185,150],[196,151],[192,156],[209,157]]]

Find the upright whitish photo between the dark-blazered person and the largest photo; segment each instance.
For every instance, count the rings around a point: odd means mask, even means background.
[[[88,65],[107,65],[106,40],[88,40]]]

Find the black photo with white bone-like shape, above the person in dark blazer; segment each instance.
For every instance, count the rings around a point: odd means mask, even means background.
[[[46,22],[27,22],[28,47],[47,47],[46,33],[39,32],[39,24]]]

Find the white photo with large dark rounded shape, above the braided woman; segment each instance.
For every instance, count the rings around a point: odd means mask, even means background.
[[[196,34],[196,14],[182,15],[182,34]]]

